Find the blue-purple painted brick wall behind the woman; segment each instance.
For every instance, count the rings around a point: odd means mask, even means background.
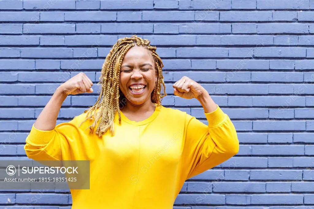
[[[27,159],[25,138],[58,85],[78,72],[96,84],[111,46],[137,34],[163,59],[162,104],[206,123],[197,100],[172,94],[186,75],[240,141],[235,157],[187,180],[174,208],[313,209],[313,9],[314,0],[0,0],[0,160]],[[97,94],[68,96],[57,124]],[[0,208],[71,208],[68,191],[31,192],[0,188]]]

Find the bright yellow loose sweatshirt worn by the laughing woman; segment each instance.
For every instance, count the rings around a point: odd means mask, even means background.
[[[204,112],[205,113],[205,112]],[[121,112],[115,135],[89,135],[85,118],[54,130],[32,127],[24,149],[34,160],[89,160],[90,189],[70,190],[73,209],[172,209],[185,180],[236,155],[239,141],[230,118],[217,105],[208,126],[180,110],[157,106],[139,122]]]

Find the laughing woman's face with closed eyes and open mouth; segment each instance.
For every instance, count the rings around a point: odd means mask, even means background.
[[[120,71],[120,90],[133,105],[151,101],[157,75],[154,58],[148,49],[133,46],[124,56]]]

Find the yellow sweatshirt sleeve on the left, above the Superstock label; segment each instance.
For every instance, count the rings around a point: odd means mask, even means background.
[[[84,124],[78,127],[83,115],[60,123],[50,131],[38,130],[33,124],[25,141],[26,155],[34,160],[74,160],[76,155],[83,154],[82,141],[88,140],[82,128]]]

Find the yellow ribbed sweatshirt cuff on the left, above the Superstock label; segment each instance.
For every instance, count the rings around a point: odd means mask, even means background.
[[[50,131],[38,130],[34,127],[34,124],[32,126],[32,129],[30,130],[30,134],[27,137],[27,141],[35,145],[48,144],[48,142],[50,142],[50,140],[52,139],[55,130],[54,129]]]

